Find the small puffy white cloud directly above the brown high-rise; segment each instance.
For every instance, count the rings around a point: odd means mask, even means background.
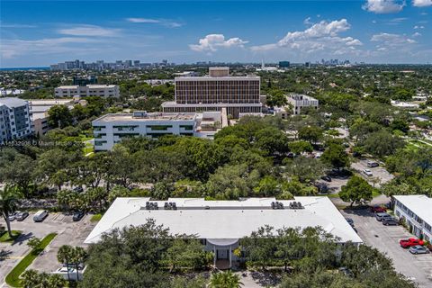
[[[223,34],[209,34],[199,40],[199,44],[190,44],[189,48],[199,52],[214,52],[219,48],[244,47],[248,41],[238,37],[225,40]]]

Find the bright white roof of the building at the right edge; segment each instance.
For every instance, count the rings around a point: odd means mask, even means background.
[[[432,198],[427,195],[393,195],[393,198],[407,206],[410,211],[432,225]]]

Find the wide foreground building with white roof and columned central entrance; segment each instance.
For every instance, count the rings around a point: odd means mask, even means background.
[[[103,233],[139,226],[148,219],[155,220],[157,225],[164,225],[173,235],[195,235],[202,240],[205,250],[214,252],[215,264],[218,260],[229,260],[229,266],[241,261],[233,253],[239,239],[250,236],[265,225],[275,229],[320,226],[338,237],[340,243],[363,242],[327,197],[295,197],[294,200],[277,201],[284,205],[284,209],[272,208],[275,198],[247,198],[239,201],[170,198],[167,201],[151,201],[152,204],[149,204],[149,199],[117,198],[85,243],[98,242]],[[296,202],[295,207],[293,202]],[[152,209],[154,203],[157,204],[157,210]]]

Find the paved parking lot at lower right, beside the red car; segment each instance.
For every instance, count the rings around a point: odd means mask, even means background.
[[[357,233],[365,244],[376,247],[392,258],[398,272],[418,282],[419,287],[432,287],[432,254],[412,255],[408,249],[400,247],[401,238],[413,237],[406,229],[401,226],[384,226],[367,210],[341,212],[354,220]]]

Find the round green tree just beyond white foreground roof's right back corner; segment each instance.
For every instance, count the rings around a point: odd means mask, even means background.
[[[373,188],[360,176],[352,176],[346,185],[342,186],[339,193],[340,199],[345,202],[351,202],[350,206],[356,202],[363,203],[372,200]]]

